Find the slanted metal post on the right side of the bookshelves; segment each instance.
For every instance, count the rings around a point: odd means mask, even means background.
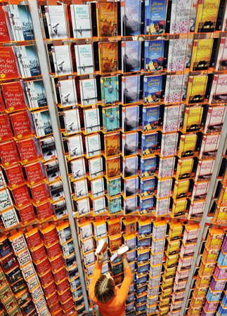
[[[194,271],[195,271],[195,263],[197,261],[198,252],[199,252],[200,245],[201,245],[201,242],[202,242],[202,235],[203,235],[203,232],[204,232],[204,229],[205,229],[205,225],[206,225],[207,214],[208,214],[208,211],[209,211],[209,204],[210,204],[210,201],[212,199],[212,192],[213,192],[213,189],[214,189],[214,183],[216,181],[216,176],[217,176],[217,173],[218,173],[218,170],[219,170],[219,164],[221,162],[221,155],[222,155],[223,147],[224,147],[225,141],[226,141],[226,133],[227,133],[227,114],[226,114],[226,117],[225,117],[225,121],[223,122],[223,129],[222,129],[222,132],[221,132],[221,138],[220,138],[220,142],[219,142],[219,149],[218,149],[218,152],[216,154],[214,170],[213,170],[213,173],[212,173],[211,181],[209,183],[209,189],[208,189],[208,192],[207,192],[205,209],[204,209],[204,212],[203,212],[202,220],[200,221],[200,232],[199,232],[199,236],[197,238],[197,243],[196,243],[196,246],[195,246],[195,254],[194,254],[194,257],[193,257],[193,263],[192,263],[192,266],[190,268],[190,273],[188,275],[188,282],[186,284],[186,294],[185,294],[185,296],[183,298],[183,304],[181,306],[181,314],[180,314],[180,316],[184,315],[184,312],[185,312],[185,309],[186,309],[186,303],[188,301],[188,294],[189,294],[189,291],[190,291],[190,283],[191,283],[191,280],[193,279],[193,274],[194,274]]]

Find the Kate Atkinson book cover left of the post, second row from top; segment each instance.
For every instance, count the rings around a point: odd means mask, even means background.
[[[41,75],[37,48],[34,45],[13,46],[22,78]]]

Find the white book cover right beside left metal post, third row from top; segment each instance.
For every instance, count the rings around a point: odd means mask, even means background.
[[[59,80],[58,87],[63,107],[77,105],[77,91],[74,79]]]

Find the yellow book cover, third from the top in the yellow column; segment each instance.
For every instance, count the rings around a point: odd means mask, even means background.
[[[186,103],[202,103],[205,99],[207,76],[189,76]]]

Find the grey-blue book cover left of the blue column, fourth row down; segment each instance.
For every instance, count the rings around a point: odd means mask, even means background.
[[[139,106],[122,107],[122,131],[135,131],[138,129]]]

